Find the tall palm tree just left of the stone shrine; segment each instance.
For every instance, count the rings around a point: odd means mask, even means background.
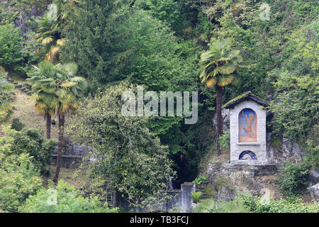
[[[217,113],[217,153],[220,152],[219,138],[223,135],[223,118],[221,107],[223,104],[223,87],[234,79],[234,72],[242,62],[240,50],[231,50],[229,39],[216,40],[208,51],[201,55],[203,71],[199,75],[201,82],[206,81],[207,87],[216,87],[216,113]]]

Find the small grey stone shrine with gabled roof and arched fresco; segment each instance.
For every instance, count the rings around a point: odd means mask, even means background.
[[[267,165],[266,101],[251,92],[223,106],[230,110],[230,164]]]

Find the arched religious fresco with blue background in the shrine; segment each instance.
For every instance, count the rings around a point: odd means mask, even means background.
[[[252,109],[239,114],[239,143],[257,142],[257,115]]]

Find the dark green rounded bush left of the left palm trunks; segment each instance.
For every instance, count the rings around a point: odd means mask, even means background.
[[[48,172],[50,167],[51,151],[57,145],[55,140],[47,140],[43,133],[34,128],[23,128],[13,135],[11,150],[16,154],[30,154],[33,156],[33,164],[41,173]]]

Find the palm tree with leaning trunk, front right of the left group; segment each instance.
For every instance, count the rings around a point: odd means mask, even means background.
[[[35,67],[37,70],[37,67]],[[59,145],[57,151],[57,170],[53,181],[57,183],[60,174],[65,114],[67,111],[76,111],[80,100],[84,96],[87,84],[84,77],[76,77],[77,64],[71,62],[66,64],[52,65],[51,62],[41,62],[38,71],[45,72],[43,77],[37,75],[29,80],[37,81],[33,89],[40,96],[43,106],[47,111],[54,111],[59,118]]]

